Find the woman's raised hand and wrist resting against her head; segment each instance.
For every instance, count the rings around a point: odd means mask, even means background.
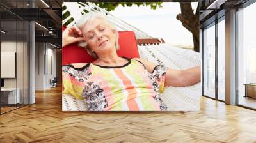
[[[67,27],[62,33],[62,47],[83,40],[82,31],[75,26]]]

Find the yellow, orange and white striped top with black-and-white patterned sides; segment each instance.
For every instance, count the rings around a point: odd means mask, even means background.
[[[83,100],[89,111],[159,111],[167,107],[161,100],[166,66],[150,73],[143,63],[127,59],[124,66],[82,68],[62,66],[63,94]]]

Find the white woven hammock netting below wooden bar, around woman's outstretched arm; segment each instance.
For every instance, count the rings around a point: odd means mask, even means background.
[[[139,46],[140,57],[156,64],[164,64],[174,69],[186,69],[200,65],[200,56],[192,50],[172,47],[172,45]],[[168,111],[199,110],[201,86],[200,83],[189,87],[165,87],[162,95]],[[63,94],[63,111],[86,111],[82,100]]]

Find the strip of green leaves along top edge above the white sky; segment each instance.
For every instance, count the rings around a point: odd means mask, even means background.
[[[119,5],[125,6],[150,6],[152,10],[156,10],[156,8],[161,8],[161,4],[163,2],[95,2],[97,6],[100,8],[104,8],[107,11],[113,11]]]

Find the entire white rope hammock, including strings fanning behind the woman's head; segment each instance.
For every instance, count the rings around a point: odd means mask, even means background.
[[[72,5],[73,4],[73,5]],[[72,4],[64,2],[63,5],[67,7],[67,10],[71,10],[72,6],[77,7],[77,11],[83,11],[84,9],[87,11],[100,11],[103,13],[107,13],[109,19],[115,24],[118,29],[127,31],[132,30],[136,34],[136,38],[152,38],[152,36],[148,36],[147,33],[140,31],[136,27],[133,27],[126,22],[117,19],[113,15],[111,15],[108,11],[95,6],[92,3],[84,4],[84,3],[74,3]],[[83,5],[83,6],[81,6]],[[80,6],[80,8],[79,8]],[[94,7],[94,8],[93,8]],[[74,21],[81,17],[81,13],[71,13],[70,17],[63,20],[63,24],[67,22],[72,17]],[[80,16],[79,16],[80,15]],[[73,26],[75,22],[71,22],[68,26]],[[197,52],[193,52],[192,50],[180,49],[177,47],[173,47],[168,44],[161,45],[147,45],[147,46],[139,46],[138,50],[140,53],[140,57],[143,59],[147,59],[148,61],[152,61],[156,64],[165,64],[166,66],[174,69],[186,69],[191,68],[193,66],[200,65],[200,55]],[[200,107],[200,94],[201,94],[201,86],[200,83],[195,84],[189,87],[165,87],[163,93],[163,101],[168,106],[169,111],[189,111],[189,110],[199,110]],[[83,100],[77,100],[76,98],[63,94],[62,95],[62,110],[63,111],[86,111],[86,107],[84,107]]]

